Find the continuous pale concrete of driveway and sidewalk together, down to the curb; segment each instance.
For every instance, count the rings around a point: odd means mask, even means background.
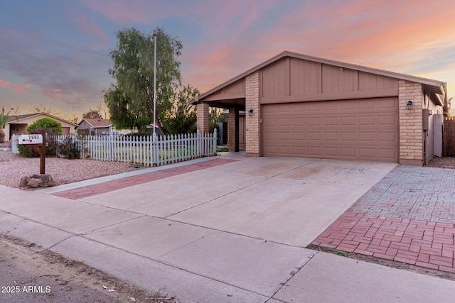
[[[0,186],[0,233],[150,292],[164,288],[179,302],[453,297],[449,280],[304,248],[396,165],[241,158],[184,166],[181,174],[80,199]]]

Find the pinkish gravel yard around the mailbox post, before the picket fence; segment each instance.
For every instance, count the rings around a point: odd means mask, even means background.
[[[138,169],[122,162],[45,158],[45,173],[53,177],[55,186],[131,170]],[[40,158],[21,158],[10,151],[0,151],[0,184],[19,187],[21,177],[39,173]]]

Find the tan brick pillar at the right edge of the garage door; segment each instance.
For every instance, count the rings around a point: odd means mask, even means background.
[[[422,166],[424,155],[422,84],[400,80],[398,89],[400,164]],[[412,101],[412,109],[407,109],[407,101]]]

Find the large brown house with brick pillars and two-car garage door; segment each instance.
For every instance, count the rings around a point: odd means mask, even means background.
[[[248,156],[407,165],[441,156],[446,103],[441,81],[287,51],[191,101],[201,132],[209,106],[229,109],[232,151],[246,111]]]

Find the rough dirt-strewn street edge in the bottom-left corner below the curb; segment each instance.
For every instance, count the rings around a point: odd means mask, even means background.
[[[178,303],[165,291],[147,292],[18,238],[0,236],[0,249],[0,281],[5,286],[0,301]],[[35,287],[35,292],[24,292],[28,287]]]

